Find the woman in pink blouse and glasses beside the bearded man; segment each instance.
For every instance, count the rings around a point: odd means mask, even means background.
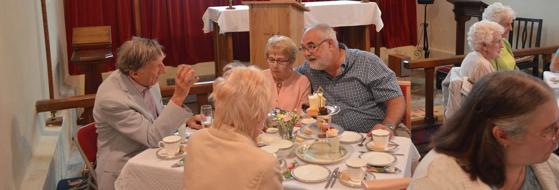
[[[293,70],[297,57],[295,42],[286,36],[273,36],[264,53],[270,69],[263,72],[274,84],[272,108],[297,109],[302,114],[301,105],[309,104],[307,96],[311,94],[311,84],[306,76]]]

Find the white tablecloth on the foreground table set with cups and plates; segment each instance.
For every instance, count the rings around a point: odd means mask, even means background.
[[[192,129],[189,129],[192,130]],[[364,135],[364,134],[363,134]],[[371,138],[367,138],[366,142]],[[313,140],[307,140],[303,143],[309,143]],[[420,155],[415,146],[411,143],[411,139],[404,137],[395,137],[392,139],[397,144],[400,144],[395,149],[394,153],[404,154],[404,156],[396,155],[397,163],[395,167],[402,170],[401,173],[374,173],[377,179],[387,178],[405,178],[411,177],[411,163],[419,160]],[[301,143],[295,143],[293,148],[296,148]],[[359,151],[367,151],[363,147],[359,147],[357,143],[341,144],[349,150],[349,155],[344,160],[333,164],[326,164],[325,167],[330,170],[339,167],[346,169],[345,160],[349,158],[357,158]],[[181,158],[176,159],[159,159],[155,156],[157,148],[147,149],[144,152],[136,155],[128,160],[119,179],[115,182],[116,189],[182,189],[182,177],[184,167],[172,168],[171,165],[178,162]],[[307,164],[301,159],[297,158],[295,153],[291,153],[286,159],[287,163],[297,160],[300,165]],[[187,163],[185,163],[187,164]],[[324,189],[326,181],[319,183],[304,183],[296,180],[283,182],[285,189]],[[331,189],[361,189],[361,187],[348,187],[340,182],[336,182]]]

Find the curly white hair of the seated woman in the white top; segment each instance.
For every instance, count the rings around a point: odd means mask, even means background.
[[[480,21],[474,23],[468,31],[468,45],[472,50],[480,51],[481,43],[490,45],[493,40],[494,35],[501,35],[505,33],[505,28],[496,22],[491,21]]]

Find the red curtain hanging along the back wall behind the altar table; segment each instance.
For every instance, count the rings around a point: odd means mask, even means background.
[[[244,0],[233,0],[233,4],[242,4]],[[252,0],[267,1],[267,0]],[[330,0],[304,0],[304,2]],[[356,0],[359,1],[359,0]],[[72,56],[72,28],[83,26],[111,26],[112,51],[135,34],[134,1],[110,0],[66,0],[64,2],[66,34],[68,42],[68,60]],[[198,62],[214,60],[213,33],[203,33],[202,15],[208,7],[228,6],[226,0],[140,0],[140,25],[142,37],[154,38],[163,45],[167,55],[165,65],[193,65]],[[382,21],[381,46],[388,48],[416,45],[416,1],[381,0]],[[371,26],[371,35],[373,35]],[[371,37],[371,47],[375,41]],[[240,61],[250,60],[248,32],[233,33],[234,58]],[[106,71],[114,70],[114,60]],[[70,75],[79,71],[69,62]]]

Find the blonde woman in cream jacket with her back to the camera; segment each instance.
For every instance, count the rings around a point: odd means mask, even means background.
[[[215,80],[214,123],[188,139],[184,189],[283,189],[278,159],[256,146],[272,91],[254,66],[231,66]]]

